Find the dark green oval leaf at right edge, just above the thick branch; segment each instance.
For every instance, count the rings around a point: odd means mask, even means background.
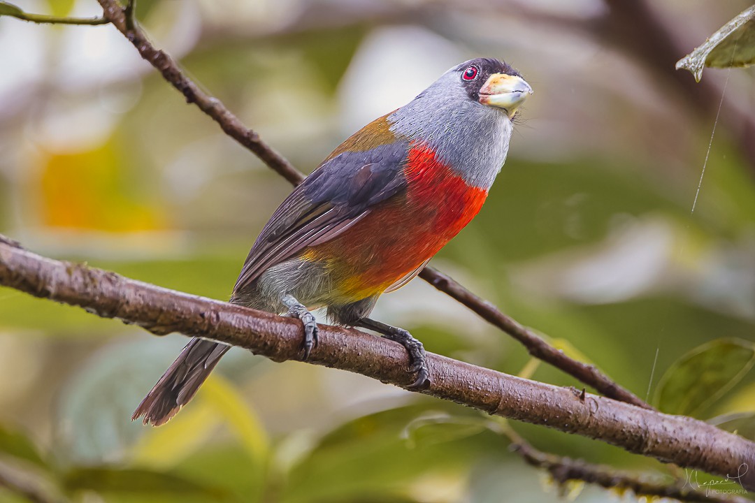
[[[717,339],[685,354],[658,384],[664,413],[696,416],[739,382],[755,363],[755,343]]]

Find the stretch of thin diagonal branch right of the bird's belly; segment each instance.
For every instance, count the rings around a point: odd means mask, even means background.
[[[572,360],[572,358],[563,354],[562,351],[549,345],[536,333],[532,332],[532,330],[523,327],[516,320],[513,320],[506,314],[498,311],[498,309],[495,308],[495,305],[476,296],[474,293],[470,292],[441,271],[438,271],[436,268],[424,268],[420,273],[420,278],[424,279],[424,281],[427,281],[427,283],[430,283],[441,292],[448,294],[451,298],[466,305],[471,311],[479,314],[483,320],[500,328],[505,333],[521,342],[533,357],[563,370],[565,373],[569,374],[569,376],[573,376],[581,382],[592,386],[600,393],[606,395],[606,397],[632,403],[633,405],[645,409],[652,409],[651,406],[639,397],[636,397],[631,391],[628,391],[621,387],[621,385],[613,382],[605,374],[593,367],[593,365],[587,365],[587,363]]]

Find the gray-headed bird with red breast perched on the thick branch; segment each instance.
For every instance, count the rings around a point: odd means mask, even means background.
[[[399,73],[407,68],[397,68]],[[230,302],[298,318],[302,359],[316,348],[312,311],[362,327],[408,352],[409,388],[429,384],[424,345],[369,317],[479,212],[506,160],[532,87],[513,67],[476,58],[341,143],[280,204],[251,247]],[[168,422],[230,349],[194,338],[132,416]]]

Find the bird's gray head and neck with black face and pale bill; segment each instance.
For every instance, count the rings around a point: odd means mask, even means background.
[[[506,160],[511,119],[532,88],[506,63],[454,66],[388,116],[398,136],[427,143],[470,185],[489,188]]]

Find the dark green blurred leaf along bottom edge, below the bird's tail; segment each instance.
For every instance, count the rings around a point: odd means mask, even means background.
[[[67,492],[91,490],[96,492],[143,493],[156,495],[201,495],[208,498],[226,498],[227,493],[174,474],[139,469],[76,468],[63,477]]]

